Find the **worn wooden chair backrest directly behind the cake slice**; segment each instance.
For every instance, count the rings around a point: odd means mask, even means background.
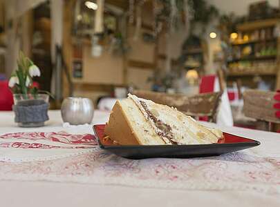
[[[185,115],[192,117],[208,117],[209,121],[216,122],[216,114],[221,101],[222,92],[209,92],[188,97],[187,95],[171,95],[165,92],[151,92],[135,90],[133,94],[150,99],[156,103],[177,108]]]

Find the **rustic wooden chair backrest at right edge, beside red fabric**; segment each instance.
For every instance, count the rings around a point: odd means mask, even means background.
[[[246,90],[243,92],[243,111],[246,117],[268,123],[268,130],[272,130],[272,124],[280,124],[277,118],[277,110],[274,108],[277,101],[274,99],[277,92],[265,92],[261,90]]]

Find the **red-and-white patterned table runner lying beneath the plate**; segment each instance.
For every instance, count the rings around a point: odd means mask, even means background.
[[[47,144],[38,144],[44,141]],[[254,155],[253,150],[207,158],[131,160],[100,149],[95,137],[88,134],[19,132],[0,136],[0,143],[0,149],[11,152],[73,152],[55,159],[0,161],[0,180],[182,190],[251,190],[280,195],[280,157],[260,157]]]

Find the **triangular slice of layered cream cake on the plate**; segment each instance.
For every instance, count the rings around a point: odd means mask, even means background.
[[[176,108],[135,95],[115,103],[105,135],[121,145],[212,144],[223,137]]]

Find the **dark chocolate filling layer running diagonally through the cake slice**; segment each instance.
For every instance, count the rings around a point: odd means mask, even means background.
[[[151,119],[155,123],[156,128],[158,128],[158,136],[167,138],[171,142],[171,144],[178,144],[177,141],[173,140],[174,135],[171,132],[171,126],[163,123],[160,119],[155,117],[151,113],[151,111],[148,109],[147,104],[144,101],[140,101],[140,104],[144,108],[144,110],[147,112],[149,119]],[[165,142],[165,144],[167,144],[165,139],[162,139],[162,140]]]

